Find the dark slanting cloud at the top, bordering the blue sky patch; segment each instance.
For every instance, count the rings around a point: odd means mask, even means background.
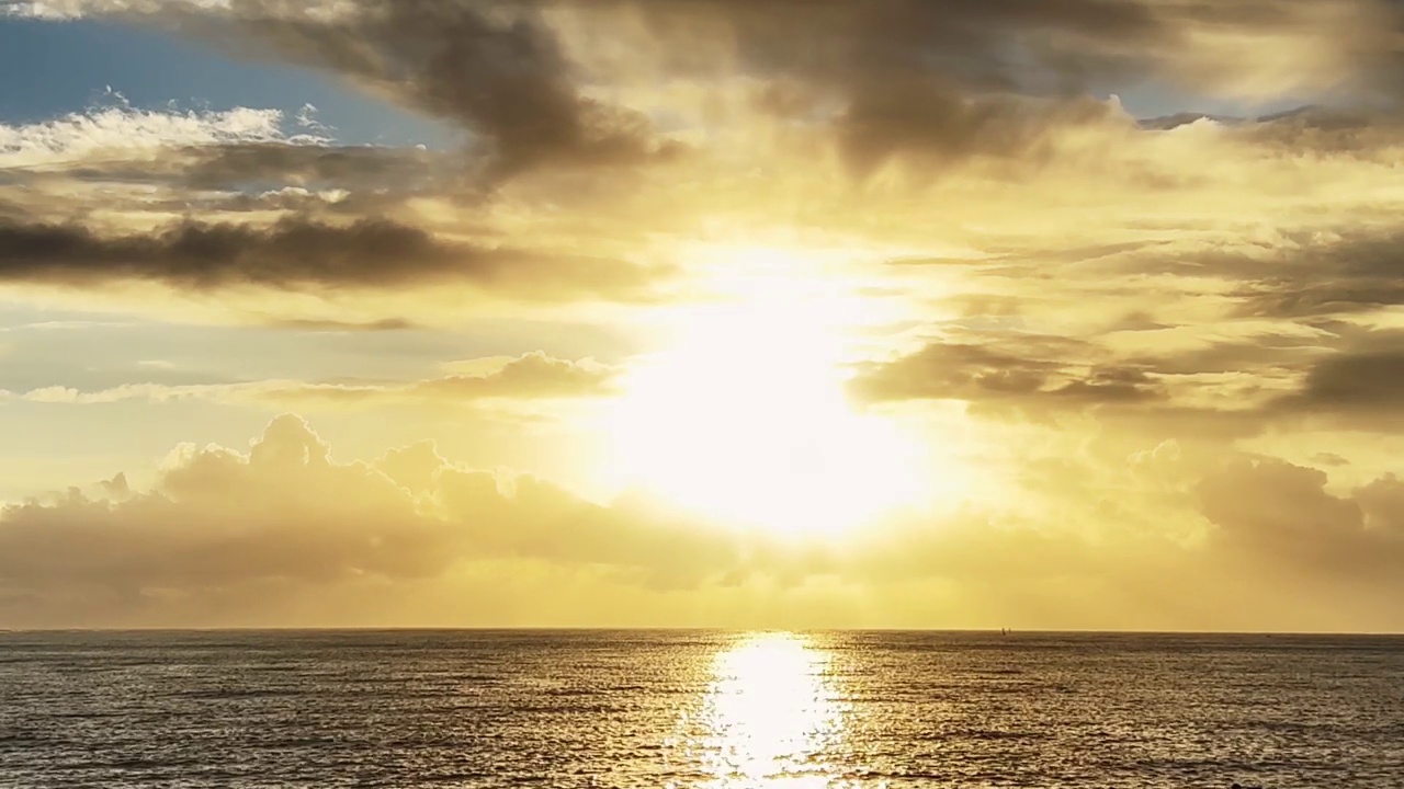
[[[581,76],[534,3],[358,0],[334,18],[247,3],[240,24],[278,56],[327,67],[472,131],[491,174],[635,164],[675,149],[646,115],[581,94]],[[256,51],[257,53],[257,51]]]

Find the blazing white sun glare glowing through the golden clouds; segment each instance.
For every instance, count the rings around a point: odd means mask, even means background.
[[[851,286],[785,251],[729,260],[734,298],[675,313],[677,341],[626,378],[616,473],[695,514],[779,533],[842,532],[915,501],[917,444],[844,396],[847,333],[863,306]]]

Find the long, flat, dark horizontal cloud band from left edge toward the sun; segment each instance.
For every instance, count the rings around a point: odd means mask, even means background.
[[[651,272],[622,261],[482,248],[409,225],[362,219],[270,226],[185,222],[100,236],[77,225],[0,220],[0,281],[180,288],[390,288],[466,282],[531,299],[642,296]]]

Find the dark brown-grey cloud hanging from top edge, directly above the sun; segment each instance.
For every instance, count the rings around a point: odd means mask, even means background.
[[[903,154],[938,167],[981,156],[1038,160],[1056,131],[1113,117],[1077,95],[1085,73],[1112,67],[1090,42],[1161,35],[1146,8],[1097,0],[664,0],[640,8],[680,42],[687,20],[708,18],[734,41],[744,70],[807,86],[772,88],[761,107],[813,119],[837,102],[833,132],[859,174]],[[1040,84],[1050,73],[1057,84]]]

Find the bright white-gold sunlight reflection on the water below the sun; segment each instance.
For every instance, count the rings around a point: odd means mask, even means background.
[[[689,754],[713,789],[837,786],[847,703],[830,675],[833,653],[806,636],[744,636],[719,653]],[[689,761],[691,761],[689,760]]]

